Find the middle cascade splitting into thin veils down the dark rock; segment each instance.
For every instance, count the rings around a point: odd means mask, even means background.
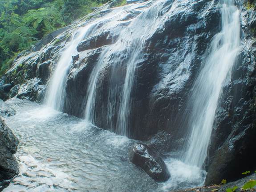
[[[144,3],[147,4],[148,2]],[[166,17],[159,16],[164,0],[154,2],[149,8],[140,9],[140,15],[131,21],[128,27],[119,33],[118,41],[106,48],[98,58],[98,62],[89,78],[85,101],[85,119],[93,124],[96,122],[95,104],[97,100],[98,78],[104,74],[109,61],[112,74],[108,90],[107,129],[118,135],[128,136],[131,93],[134,88],[137,64],[143,61],[145,41],[152,36],[157,28],[163,24]],[[129,9],[141,7],[134,4]],[[170,11],[171,12],[171,11]],[[170,13],[169,13],[170,14]],[[167,13],[168,15],[168,13]],[[113,18],[113,23],[120,18]],[[122,82],[117,82],[116,76],[122,72]],[[114,119],[116,116],[116,119]]]

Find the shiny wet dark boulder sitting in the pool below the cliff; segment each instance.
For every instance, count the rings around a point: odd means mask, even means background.
[[[158,182],[165,182],[171,177],[162,158],[145,144],[134,144],[128,156],[133,164],[141,167],[146,174]]]

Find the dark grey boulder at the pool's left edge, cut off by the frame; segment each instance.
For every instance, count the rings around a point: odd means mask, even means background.
[[[12,131],[0,119],[0,181],[8,180],[19,173],[14,153],[19,141]]]

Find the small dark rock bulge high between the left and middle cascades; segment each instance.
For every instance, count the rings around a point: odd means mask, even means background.
[[[118,39],[118,35],[110,34],[110,32],[102,32],[98,36],[92,36],[82,41],[77,46],[77,51],[85,51],[88,49],[95,49],[108,44],[114,44]]]

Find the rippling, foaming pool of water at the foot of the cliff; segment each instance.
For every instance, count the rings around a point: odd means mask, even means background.
[[[128,160],[135,140],[30,101],[6,103],[16,110],[5,122],[20,140],[20,174],[4,192],[166,192],[203,184],[205,172],[171,158],[171,179],[157,183]]]

